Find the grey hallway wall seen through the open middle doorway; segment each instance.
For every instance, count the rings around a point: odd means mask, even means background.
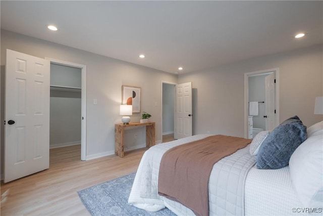
[[[163,83],[163,134],[174,133],[174,84]]]

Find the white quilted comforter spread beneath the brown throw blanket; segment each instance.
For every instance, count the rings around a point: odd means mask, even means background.
[[[167,206],[178,215],[194,215],[180,203],[158,195],[159,163],[170,148],[208,136],[195,135],[155,145],[147,150],[139,164],[128,202],[148,211],[157,211]],[[249,154],[247,146],[214,164],[209,178],[210,215],[244,214],[244,182],[254,163],[255,158]]]

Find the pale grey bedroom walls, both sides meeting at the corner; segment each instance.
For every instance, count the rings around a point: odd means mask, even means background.
[[[163,71],[2,30],[0,122],[4,121],[6,49],[87,66],[86,154],[93,157],[111,154],[115,150],[114,124],[121,122],[119,105],[123,84],[141,87],[141,109],[152,114],[150,120],[156,122],[157,142],[161,140],[162,131],[161,80],[173,83],[192,81],[194,134],[210,131],[212,134],[243,137],[244,73],[271,68],[280,69],[280,120],[293,115],[298,115],[305,125],[323,120],[322,115],[313,114],[315,97],[323,95],[321,45],[180,74],[177,78]],[[93,105],[93,99],[97,99],[97,105]],[[140,117],[138,113],[131,119],[139,121]],[[3,158],[3,136],[1,141]]]

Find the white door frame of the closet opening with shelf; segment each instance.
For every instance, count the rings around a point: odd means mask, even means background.
[[[45,58],[50,61],[50,63],[75,67],[81,69],[81,79],[82,79],[82,87],[81,87],[81,160],[86,160],[86,65],[62,61],[58,59]]]

